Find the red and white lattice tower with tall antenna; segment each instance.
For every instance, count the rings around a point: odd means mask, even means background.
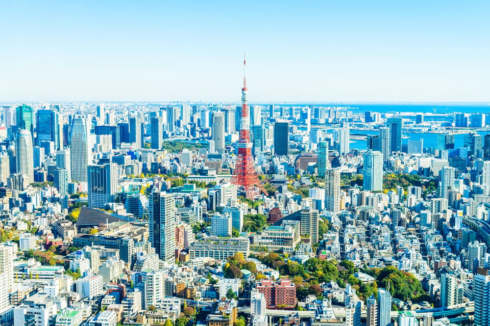
[[[243,188],[246,197],[254,199],[262,191],[265,195],[264,186],[260,183],[255,172],[254,159],[252,157],[252,142],[250,141],[250,112],[247,103],[247,77],[245,68],[247,62],[243,58],[243,87],[241,89],[241,118],[240,118],[240,139],[238,140],[238,156],[236,158],[235,171],[231,183]]]

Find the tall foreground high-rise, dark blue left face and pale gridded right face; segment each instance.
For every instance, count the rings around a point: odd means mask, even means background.
[[[153,192],[149,199],[150,242],[160,259],[175,260],[175,198],[173,194]]]

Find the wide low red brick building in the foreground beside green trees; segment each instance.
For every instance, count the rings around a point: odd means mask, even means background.
[[[260,280],[257,290],[265,296],[267,309],[293,309],[296,307],[296,286],[289,279],[280,279],[277,283],[271,280]]]

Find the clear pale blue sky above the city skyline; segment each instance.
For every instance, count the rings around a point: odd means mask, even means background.
[[[490,101],[490,1],[0,0],[0,101]]]

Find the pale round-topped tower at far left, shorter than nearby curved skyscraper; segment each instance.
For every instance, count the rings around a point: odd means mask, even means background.
[[[31,132],[21,129],[15,138],[16,171],[24,174],[29,183],[34,182],[34,160]]]

